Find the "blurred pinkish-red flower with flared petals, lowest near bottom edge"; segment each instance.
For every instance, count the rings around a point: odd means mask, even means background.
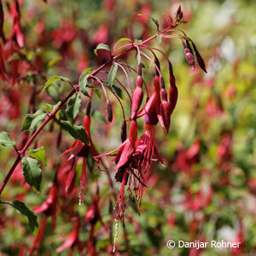
[[[73,255],[74,247],[79,247],[79,251],[82,252],[83,246],[82,242],[79,240],[79,227],[79,218],[76,218],[75,223],[73,224],[73,231],[69,234],[67,240],[64,241],[60,247],[57,247],[56,253],[61,253],[68,247],[71,247],[71,250],[68,254],[69,256]]]

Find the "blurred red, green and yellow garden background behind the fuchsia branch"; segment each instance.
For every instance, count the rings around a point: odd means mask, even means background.
[[[4,38],[11,37],[10,9],[13,1],[2,1]],[[207,74],[199,67],[193,72],[187,64],[182,44],[177,39],[164,39],[160,45],[170,58],[177,79],[177,108],[166,136],[159,127],[157,145],[165,159],[165,167],[156,163],[143,195],[141,208],[127,197],[125,229],[119,224],[115,255],[255,255],[256,253],[256,2],[226,1],[18,1],[20,26],[25,43],[3,44],[2,55],[10,83],[1,81],[0,130],[22,143],[20,127],[26,113],[54,104],[67,95],[68,84],[52,85],[48,94],[40,94],[52,75],[61,75],[77,82],[84,68],[98,67],[108,55],[96,57],[93,49],[103,43],[113,47],[119,38],[143,39],[156,31],[154,23],[137,14],[151,15],[166,26],[166,15],[174,15],[182,4],[180,26],[192,38],[207,64]],[[5,46],[4,46],[5,45]],[[160,57],[161,69],[168,81],[167,65]],[[136,67],[134,54],[125,61]],[[154,68],[144,60],[148,84],[154,79]],[[119,80],[125,76],[119,74]],[[131,82],[136,76],[131,73]],[[35,97],[32,95],[36,95]],[[111,98],[113,100],[113,98]],[[77,122],[82,122],[87,101]],[[124,104],[128,100],[124,95]],[[126,103],[125,103],[126,102]],[[128,105],[127,105],[128,106]],[[95,97],[92,137],[100,152],[108,152],[120,143],[122,122],[119,105],[113,100],[114,120],[107,124],[105,104]],[[143,122],[139,124],[143,133]],[[38,137],[34,148],[44,146],[47,166],[43,168],[42,191],[37,195],[25,185],[21,166],[15,171],[2,199],[20,200],[32,209],[40,206],[49,194],[49,183],[56,170],[66,165],[61,158],[73,144],[73,138],[50,124]],[[57,145],[57,146],[56,146]],[[0,181],[15,160],[12,148],[0,148]],[[78,170],[81,165],[78,166]],[[111,217],[111,189],[108,177],[96,166],[87,177],[88,189],[84,205],[79,206],[77,191],[63,195],[57,204],[57,224],[51,231],[48,219],[39,255],[57,255],[56,248],[73,230],[72,214],[84,217],[100,184],[100,210],[103,223],[112,233],[102,232],[96,223],[95,255],[111,255],[115,223]],[[79,178],[77,182],[79,187]],[[114,184],[116,192],[119,183]],[[69,209],[69,210],[67,210]],[[71,210],[72,209],[72,210]],[[110,212],[110,213],[109,213]],[[44,213],[38,213],[39,225]],[[90,227],[79,230],[84,247],[89,241]],[[241,241],[241,247],[168,249],[166,241]],[[0,205],[0,255],[27,255],[34,236],[26,218],[6,205]],[[69,248],[70,249],[70,248]],[[60,255],[68,255],[66,249]],[[73,255],[80,255],[75,249]],[[86,254],[84,254],[86,255]],[[93,254],[90,254],[93,255]]]

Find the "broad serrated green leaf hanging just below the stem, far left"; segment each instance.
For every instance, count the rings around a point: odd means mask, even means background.
[[[42,179],[42,171],[38,160],[31,157],[22,158],[23,175],[32,189],[38,194],[40,193],[40,183]]]

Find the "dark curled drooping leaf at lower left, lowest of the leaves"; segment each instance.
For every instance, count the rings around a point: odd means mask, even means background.
[[[20,214],[26,216],[29,227],[32,230],[33,234],[36,236],[38,234],[38,217],[35,212],[32,212],[32,210],[26,207],[26,204],[22,201],[12,201],[12,203],[9,203],[9,205],[14,207],[16,212],[19,212]]]

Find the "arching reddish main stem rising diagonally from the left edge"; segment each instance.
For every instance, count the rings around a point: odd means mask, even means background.
[[[172,26],[167,26],[166,29],[162,30],[159,33],[162,34],[166,31],[168,31],[170,28],[172,28]],[[147,44],[148,42],[150,42],[154,38],[157,38],[157,34],[155,34],[154,36],[144,40],[140,44],[137,44],[137,46],[140,47],[143,44]],[[127,45],[127,46],[129,46],[129,45]],[[125,45],[125,47],[126,47],[126,45]],[[95,77],[95,75],[97,73],[99,73],[104,67],[107,67],[108,64],[113,63],[114,61],[117,61],[122,55],[125,55],[126,53],[130,52],[132,49],[136,49],[134,44],[131,44],[131,47],[125,49],[124,52],[120,53],[119,55],[113,56],[109,61],[102,64],[102,66],[96,68],[92,73],[90,73],[90,76],[88,77],[88,80]],[[32,144],[32,142],[35,140],[35,138],[38,136],[40,131],[42,131],[44,129],[45,125],[47,125],[50,120],[55,118],[55,114],[65,105],[65,103],[68,101],[68,99],[79,91],[79,85],[74,85],[73,87],[74,87],[74,89],[66,96],[66,98],[61,102],[61,104],[57,108],[55,108],[55,110],[53,110],[52,113],[49,113],[46,116],[46,118],[44,119],[44,122],[38,127],[38,130],[35,131],[32,134],[32,137],[30,137],[30,139],[26,142],[25,146],[20,149],[20,151],[18,152],[17,158],[15,160],[15,163],[9,169],[9,172],[7,173],[6,177],[3,180],[3,183],[0,186],[0,196],[2,195],[3,189],[5,188],[6,184],[9,182],[9,178],[12,176],[13,172],[15,171],[16,166],[18,166],[22,157],[26,154],[27,148],[29,148],[29,146]]]

